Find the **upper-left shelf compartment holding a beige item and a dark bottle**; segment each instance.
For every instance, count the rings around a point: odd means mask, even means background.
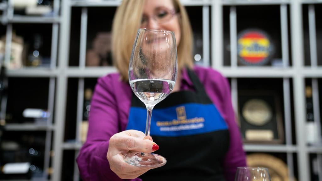
[[[12,29],[10,46],[13,52],[11,60],[6,60],[8,69],[50,68],[52,24],[12,24]]]

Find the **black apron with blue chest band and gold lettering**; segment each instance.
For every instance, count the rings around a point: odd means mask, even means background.
[[[224,181],[222,161],[229,147],[227,124],[195,73],[187,69],[195,91],[171,93],[152,111],[150,135],[166,158],[163,167],[139,176],[143,181]],[[128,129],[145,132],[147,110],[132,95]]]

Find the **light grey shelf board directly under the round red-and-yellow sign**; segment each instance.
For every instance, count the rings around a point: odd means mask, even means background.
[[[220,71],[224,76],[231,78],[287,78],[294,75],[293,68],[282,67],[223,67],[216,70]]]

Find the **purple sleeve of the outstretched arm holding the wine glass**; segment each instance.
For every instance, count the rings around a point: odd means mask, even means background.
[[[87,140],[76,159],[84,180],[122,180],[110,170],[109,138],[119,132],[113,80],[99,78],[91,101]]]

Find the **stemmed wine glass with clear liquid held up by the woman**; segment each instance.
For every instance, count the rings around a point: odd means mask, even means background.
[[[177,49],[175,33],[163,30],[138,29],[128,77],[135,95],[147,107],[145,135],[150,135],[154,106],[173,90],[177,77]],[[138,167],[161,167],[166,159],[154,153],[132,152],[124,160]]]

